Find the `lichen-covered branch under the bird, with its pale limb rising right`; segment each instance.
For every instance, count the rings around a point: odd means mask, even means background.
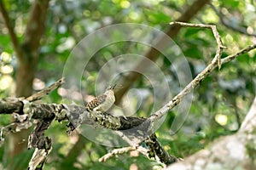
[[[221,52],[222,47],[218,47]],[[232,59],[236,59],[241,54],[245,54],[249,52],[250,50],[253,50],[256,48],[256,44],[253,44],[251,46],[248,46],[247,48],[243,48],[240,51],[238,51],[236,54],[231,54],[228,57],[225,57],[224,59],[221,59],[221,64],[227,63]],[[177,105],[186,94],[189,94],[193,88],[195,88],[202,80],[204,80],[214,69],[218,67],[218,55],[220,53],[217,53],[212,59],[212,63],[207,65],[206,69],[204,71],[201,71],[201,73],[195,77],[195,79],[190,82],[179,94],[177,94],[174,99],[172,99],[169,103],[164,105],[160,111],[155,112],[152,116],[149,116],[148,119],[146,118],[140,118],[140,117],[124,117],[124,116],[113,116],[108,113],[97,113],[97,112],[88,112],[84,108],[84,106],[79,105],[55,105],[55,104],[32,104],[26,99],[10,99],[10,100],[0,100],[0,113],[7,113],[10,114],[12,111],[17,112],[18,114],[26,114],[31,115],[28,116],[28,120],[35,119],[38,120],[38,131],[34,131],[33,133],[33,140],[31,142],[32,147],[36,147],[38,149],[47,149],[46,146],[50,143],[50,140],[47,139],[47,137],[44,137],[44,131],[49,127],[50,122],[52,122],[54,119],[61,122],[62,120],[69,120],[70,124],[69,127],[71,130],[77,127],[77,125],[81,123],[86,123],[92,126],[98,126],[98,127],[104,127],[109,128],[113,130],[125,130],[125,129],[131,129],[132,127],[137,127],[141,125],[144,122],[148,122],[146,126],[143,126],[140,132],[132,132],[131,134],[136,134],[137,136],[143,136],[143,138],[147,137],[145,136],[147,132],[150,132],[150,129],[148,129],[150,123],[154,123],[155,120],[159,119],[161,116],[166,114],[166,111],[171,110],[175,105]],[[44,95],[48,94],[48,92],[55,87],[58,86],[59,82],[56,82],[55,85],[51,86],[53,88],[48,88],[48,90],[44,90],[44,92],[38,93],[38,96],[34,96],[28,99],[41,99]],[[49,90],[50,89],[50,90]],[[21,105],[20,105],[21,104]],[[41,121],[41,123],[40,123]],[[44,121],[47,121],[45,126]],[[43,123],[43,124],[42,124]],[[243,125],[241,126],[243,127]],[[141,132],[146,132],[141,134]],[[149,137],[150,138],[150,137]],[[37,140],[38,139],[38,140]],[[43,142],[40,142],[43,141]],[[156,140],[156,137],[154,138],[154,141]],[[168,156],[168,153],[163,150],[160,143],[158,142],[151,142],[150,144],[154,145],[157,144],[156,149],[153,149],[154,156],[158,156],[162,162],[171,162],[170,158],[172,156]],[[45,146],[45,147],[44,147]],[[42,148],[43,147],[43,148]],[[49,149],[49,148],[48,148]],[[44,154],[43,154],[44,155]],[[44,159],[42,159],[44,160]],[[168,161],[169,160],[169,161]],[[172,159],[171,159],[172,160]]]

